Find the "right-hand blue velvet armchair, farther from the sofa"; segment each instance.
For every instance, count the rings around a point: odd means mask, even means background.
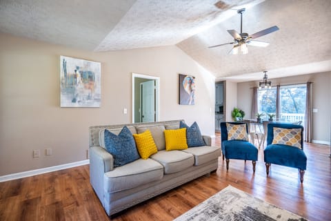
[[[274,140],[274,127],[287,129],[301,128],[301,139],[299,141],[301,148],[285,144],[272,144],[272,140]],[[307,157],[303,152],[303,126],[295,124],[268,124],[268,137],[267,146],[264,150],[264,162],[267,175],[269,175],[269,167],[271,164],[297,168],[302,183],[303,175],[305,174],[307,166]]]

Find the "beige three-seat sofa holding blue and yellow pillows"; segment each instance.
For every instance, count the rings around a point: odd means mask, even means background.
[[[163,131],[179,128],[180,121],[90,126],[90,183],[108,215],[217,170],[221,148],[211,146],[208,136],[203,136],[206,146],[165,151]],[[114,167],[112,155],[102,147],[103,130],[119,134],[125,125],[132,134],[149,129],[158,152],[148,160]]]

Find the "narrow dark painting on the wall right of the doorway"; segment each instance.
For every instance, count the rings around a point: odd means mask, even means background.
[[[194,105],[195,77],[179,74],[179,104]]]

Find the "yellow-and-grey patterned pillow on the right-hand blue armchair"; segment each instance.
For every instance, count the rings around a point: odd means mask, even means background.
[[[301,128],[286,129],[274,127],[274,139],[272,140],[272,144],[283,144],[302,149]]]

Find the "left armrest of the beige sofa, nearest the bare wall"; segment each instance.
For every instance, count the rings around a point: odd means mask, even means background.
[[[90,183],[103,204],[103,177],[105,173],[114,169],[114,158],[101,146],[91,146],[89,151]]]

